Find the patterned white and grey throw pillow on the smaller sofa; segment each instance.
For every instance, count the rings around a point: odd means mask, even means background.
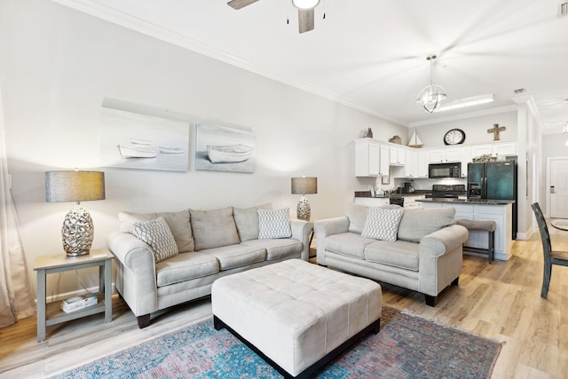
[[[398,224],[405,211],[403,209],[369,209],[363,227],[362,237],[375,240],[397,241]]]

